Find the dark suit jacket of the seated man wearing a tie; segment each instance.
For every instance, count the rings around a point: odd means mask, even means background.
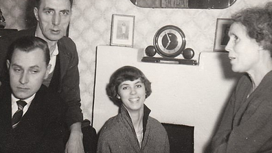
[[[42,85],[18,126],[12,128],[11,89],[0,86],[0,152],[64,152],[66,108],[60,97]]]

